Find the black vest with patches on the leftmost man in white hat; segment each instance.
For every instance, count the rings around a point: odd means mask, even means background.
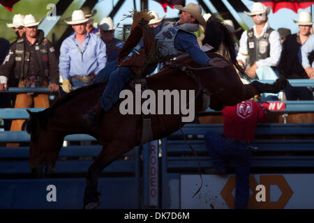
[[[38,40],[35,43],[37,60],[40,61],[40,76],[49,77],[49,53],[48,53],[48,41],[43,38],[43,31],[38,30]],[[24,42],[26,41],[25,33],[21,38],[17,39],[16,49],[15,49],[15,68],[14,74],[17,79],[22,79],[27,77],[27,72],[29,69],[29,57],[30,52],[25,52]],[[43,60],[46,58],[46,60]]]

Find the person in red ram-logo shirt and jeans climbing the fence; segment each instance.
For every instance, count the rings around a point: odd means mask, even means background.
[[[206,132],[204,139],[218,174],[225,174],[227,163],[234,163],[236,174],[235,209],[248,207],[251,141],[257,123],[267,121],[267,110],[254,100],[245,100],[223,109],[223,133]]]

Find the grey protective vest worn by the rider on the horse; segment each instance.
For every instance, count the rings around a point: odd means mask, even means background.
[[[163,29],[159,33],[156,34],[156,47],[158,49],[158,57],[161,61],[167,61],[169,59],[178,56],[179,54],[183,54],[174,48],[174,38],[176,38],[179,30],[186,31],[195,36],[194,31],[199,29],[198,24],[177,24],[174,22],[169,22],[169,24],[165,25]],[[196,38],[196,36],[195,36]]]

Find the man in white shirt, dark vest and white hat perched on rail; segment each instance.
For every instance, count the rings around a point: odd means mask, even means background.
[[[258,79],[277,79],[274,70],[281,56],[281,37],[269,26],[268,17],[271,7],[265,8],[260,2],[252,6],[251,13],[254,26],[242,33],[240,38],[238,63],[246,67],[248,75]],[[264,99],[276,100],[276,94],[264,94]]]

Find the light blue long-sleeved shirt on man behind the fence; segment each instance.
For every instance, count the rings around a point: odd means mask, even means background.
[[[107,63],[105,43],[99,36],[87,33],[83,44],[80,45],[74,36],[75,33],[63,40],[60,48],[59,72],[61,77],[68,79],[74,75],[89,75],[91,72],[97,75]]]

